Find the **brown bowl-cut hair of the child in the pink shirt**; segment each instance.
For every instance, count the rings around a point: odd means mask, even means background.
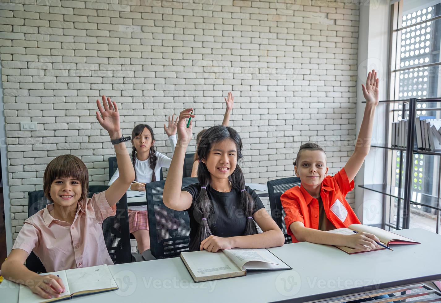
[[[53,203],[49,191],[51,184],[58,178],[75,178],[81,183],[82,194],[79,201],[87,197],[89,189],[89,172],[86,165],[74,155],[60,155],[49,162],[43,176],[43,191],[46,198]]]

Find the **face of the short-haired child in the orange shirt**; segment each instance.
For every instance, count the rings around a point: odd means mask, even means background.
[[[303,187],[317,187],[328,173],[326,155],[321,150],[305,149],[300,153],[294,166],[295,175],[300,178]]]

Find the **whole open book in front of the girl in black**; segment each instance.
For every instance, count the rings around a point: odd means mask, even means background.
[[[189,251],[182,252],[181,259],[194,282],[246,276],[248,270],[292,269],[266,248]]]

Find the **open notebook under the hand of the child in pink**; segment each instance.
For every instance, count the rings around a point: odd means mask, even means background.
[[[34,294],[28,287],[20,285],[19,303],[42,303],[55,302],[71,299],[74,296],[85,296],[97,292],[108,292],[118,289],[112,273],[107,265],[99,265],[85,268],[66,269],[41,275],[58,275],[66,287],[66,291],[58,298],[44,299]]]

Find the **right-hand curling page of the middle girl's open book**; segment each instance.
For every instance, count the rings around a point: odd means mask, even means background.
[[[271,263],[279,265],[279,259],[271,254],[266,248],[232,248],[224,249],[224,253],[242,270],[247,262]],[[253,267],[256,264],[253,263]],[[262,264],[264,266],[264,264]]]

